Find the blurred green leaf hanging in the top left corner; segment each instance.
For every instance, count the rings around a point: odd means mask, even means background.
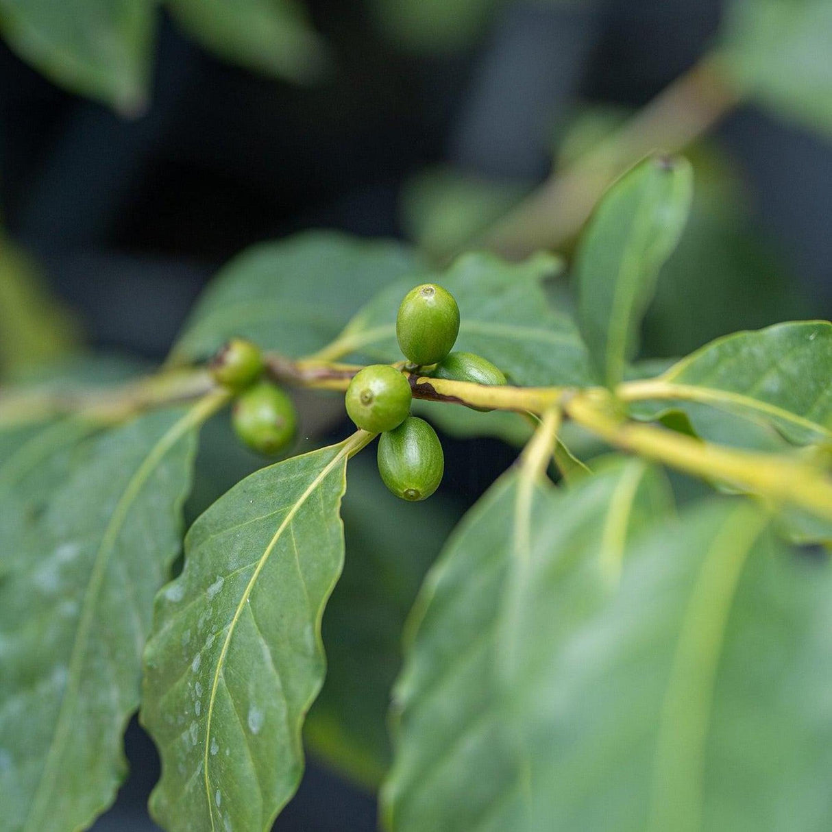
[[[152,0],[0,0],[0,29],[25,61],[125,115],[146,106]]]

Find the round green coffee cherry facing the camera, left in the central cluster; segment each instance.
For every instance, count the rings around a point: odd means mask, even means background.
[[[371,364],[349,382],[347,414],[357,427],[371,433],[397,428],[410,413],[410,384],[389,364]]]

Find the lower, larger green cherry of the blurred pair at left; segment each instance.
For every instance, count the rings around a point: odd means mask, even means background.
[[[240,394],[231,412],[231,423],[249,448],[274,456],[294,438],[297,415],[289,396],[264,381]]]

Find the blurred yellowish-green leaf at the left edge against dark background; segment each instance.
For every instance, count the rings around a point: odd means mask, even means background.
[[[63,358],[81,328],[49,294],[37,266],[0,233],[0,378]]]

